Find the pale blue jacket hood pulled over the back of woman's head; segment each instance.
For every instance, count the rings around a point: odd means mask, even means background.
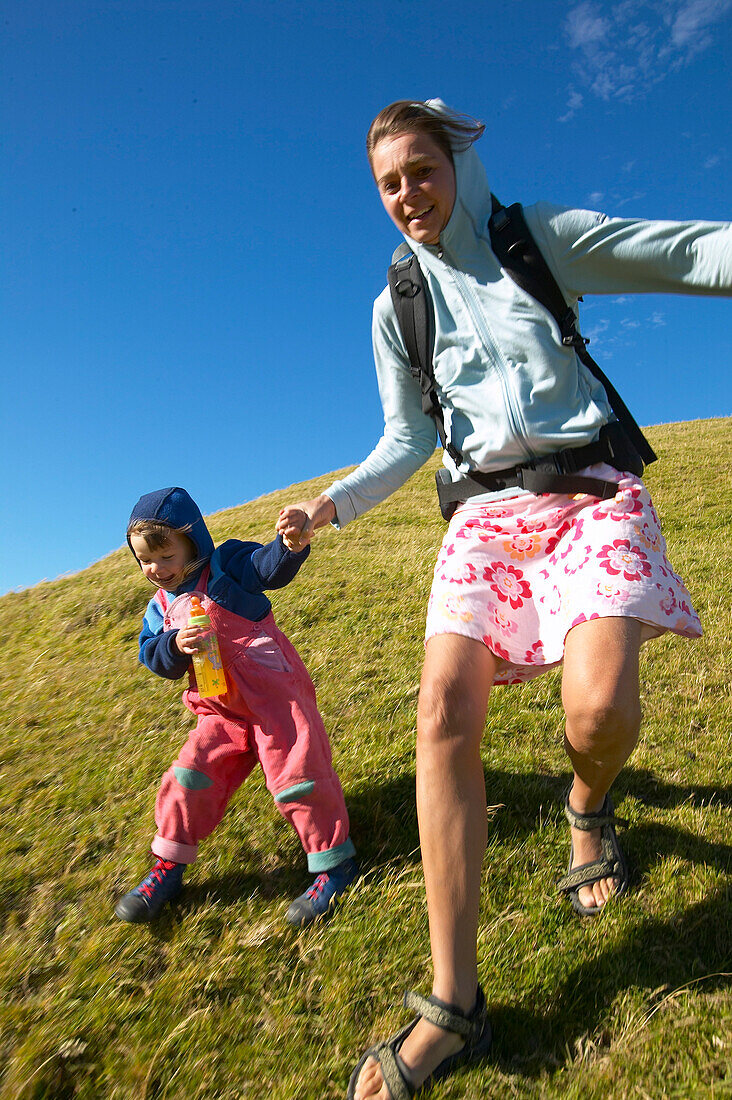
[[[450,118],[452,111],[441,99],[428,99],[426,107]],[[440,233],[440,245],[449,250],[455,258],[470,249],[477,238],[488,234],[488,220],[491,217],[491,188],[474,145],[466,150],[452,150],[455,162],[455,206],[449,221]],[[413,252],[419,254],[423,249],[435,249],[435,245],[418,244],[411,237],[404,238]]]

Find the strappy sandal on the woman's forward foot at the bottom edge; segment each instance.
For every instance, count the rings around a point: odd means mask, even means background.
[[[433,1081],[441,1077],[447,1077],[448,1074],[451,1074],[460,1066],[478,1062],[488,1055],[493,1036],[488,1019],[485,998],[480,986],[478,987],[476,1003],[467,1014],[456,1008],[455,1004],[446,1004],[445,1001],[440,1001],[437,997],[420,997],[419,993],[412,992],[404,994],[404,1007],[416,1012],[417,1015],[406,1027],[392,1035],[391,1038],[370,1047],[365,1052],[351,1074],[348,1085],[348,1100],[354,1100],[359,1076],[369,1058],[373,1058],[379,1063],[381,1076],[384,1079],[384,1085],[389,1089],[392,1100],[411,1100],[416,1092],[427,1088]],[[417,1086],[412,1079],[409,1067],[400,1057],[400,1050],[404,1040],[416,1027],[422,1018],[428,1020],[435,1026],[441,1027],[443,1031],[460,1035],[466,1042],[463,1047],[457,1050],[456,1054],[450,1054],[447,1058],[444,1058],[429,1077],[422,1085]]]

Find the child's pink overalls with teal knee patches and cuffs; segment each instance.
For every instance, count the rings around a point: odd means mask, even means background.
[[[188,622],[190,597],[198,596],[218,637],[228,692],[201,698],[192,666],[183,701],[198,724],[163,776],[152,850],[193,864],[198,842],[214,832],[233,792],[260,763],[277,810],[307,853],[308,869],[330,870],[354,848],[313,681],[271,612],[252,623],[225,610],[206,594],[207,581],[205,569],[203,591],[183,593],[170,606],[157,592],[166,630]]]

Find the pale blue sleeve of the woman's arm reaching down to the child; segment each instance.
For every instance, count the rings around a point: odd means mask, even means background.
[[[437,444],[437,429],[422,410],[419,383],[409,370],[389,289],[374,304],[372,339],[384,431],[371,454],[326,490],[336,506],[338,528],[401,488]]]

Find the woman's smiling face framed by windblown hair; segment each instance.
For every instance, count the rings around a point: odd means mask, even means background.
[[[371,168],[400,232],[420,244],[438,244],[455,206],[455,169],[441,148],[422,133],[383,138]]]

